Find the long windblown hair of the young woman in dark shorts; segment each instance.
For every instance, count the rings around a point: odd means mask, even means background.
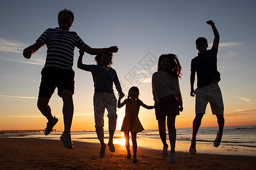
[[[158,71],[162,70],[161,62],[164,57],[170,59],[170,67],[168,68],[168,72],[181,78],[181,65],[175,54],[162,54],[158,59]]]

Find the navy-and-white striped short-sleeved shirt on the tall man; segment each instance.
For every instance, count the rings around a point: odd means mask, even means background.
[[[44,67],[58,67],[70,69],[73,67],[75,46],[79,49],[85,42],[76,32],[60,28],[48,28],[36,41],[47,45],[47,56]]]

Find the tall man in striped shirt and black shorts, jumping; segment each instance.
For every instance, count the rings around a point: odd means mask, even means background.
[[[44,133],[48,135],[58,121],[56,117],[52,116],[51,108],[48,105],[49,99],[51,99],[57,87],[58,95],[63,99],[64,132],[60,139],[63,145],[69,149],[73,148],[71,124],[74,112],[72,96],[75,90],[75,73],[72,67],[75,46],[91,55],[116,53],[118,51],[117,46],[100,49],[90,48],[76,32],[69,31],[73,20],[74,15],[71,10],[64,9],[60,11],[58,14],[59,27],[48,28],[36,40],[35,44],[23,50],[23,56],[30,59],[31,54],[34,54],[45,44],[47,45],[46,63],[41,72],[42,80],[39,87],[38,108],[48,120]]]

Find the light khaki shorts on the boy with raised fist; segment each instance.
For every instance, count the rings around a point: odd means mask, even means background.
[[[196,88],[196,114],[204,113],[210,103],[212,114],[224,114],[224,104],[218,83]]]

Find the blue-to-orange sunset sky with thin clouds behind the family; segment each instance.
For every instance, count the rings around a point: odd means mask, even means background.
[[[197,56],[195,40],[203,36],[212,46],[213,20],[220,33],[218,70],[224,98],[225,126],[256,125],[256,1],[0,1],[0,130],[44,129],[47,119],[36,107],[40,71],[46,59],[46,46],[32,55],[23,49],[34,44],[47,29],[58,27],[57,14],[67,8],[75,14],[70,31],[76,31],[92,48],[117,45],[113,68],[123,92],[138,86],[139,98],[154,105],[151,76],[161,54],[174,53],[182,66],[180,80],[184,111],[176,118],[176,128],[192,127],[195,98],[189,95],[190,63]],[[79,49],[75,49],[73,70],[75,112],[72,130],[94,130],[93,80],[89,72],[77,69]],[[94,64],[85,54],[84,63]],[[133,76],[133,75],[136,76]],[[115,87],[114,87],[115,90]],[[115,90],[116,92],[116,90]],[[50,101],[59,118],[56,130],[64,130],[62,100],[56,92]],[[117,109],[121,128],[125,107]],[[141,107],[144,129],[158,128],[154,110]],[[105,130],[108,129],[105,114]],[[210,112],[202,126],[217,126]]]

